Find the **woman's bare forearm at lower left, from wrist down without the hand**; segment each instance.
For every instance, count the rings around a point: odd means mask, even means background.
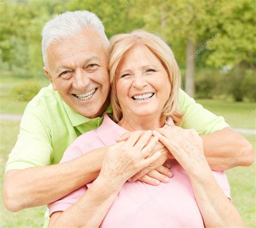
[[[99,176],[76,204],[53,213],[48,227],[98,227],[121,187]]]

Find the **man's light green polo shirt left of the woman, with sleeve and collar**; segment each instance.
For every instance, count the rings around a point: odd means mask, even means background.
[[[112,108],[106,113],[112,113]],[[59,163],[65,149],[81,134],[98,128],[102,120],[102,116],[89,119],[71,109],[51,84],[42,88],[25,108],[5,172]]]

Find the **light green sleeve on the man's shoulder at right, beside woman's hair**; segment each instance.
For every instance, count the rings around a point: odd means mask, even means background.
[[[217,116],[205,109],[199,103],[188,96],[182,89],[179,93],[179,110],[184,113],[183,123],[180,127],[185,129],[193,128],[199,135],[208,135],[230,127],[223,116]]]

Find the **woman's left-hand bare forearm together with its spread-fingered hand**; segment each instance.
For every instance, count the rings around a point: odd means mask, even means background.
[[[73,202],[71,198],[78,201],[63,213],[53,214],[49,227],[98,227],[126,180],[160,157],[160,152],[149,156],[158,142],[158,138],[153,137],[146,145],[151,135],[151,131],[144,134],[134,132],[126,142],[120,142],[121,147],[118,144],[112,146],[103,160],[102,170],[95,182],[84,194],[82,192],[80,199],[77,199],[76,192],[65,197],[63,204]],[[55,202],[52,211],[60,209],[60,203]]]

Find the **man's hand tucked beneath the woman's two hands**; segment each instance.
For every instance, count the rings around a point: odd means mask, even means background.
[[[129,139],[133,132],[128,132],[122,135],[120,138],[116,139],[117,142],[126,141]],[[159,185],[160,182],[168,183],[169,178],[173,176],[170,171],[171,165],[167,162],[168,159],[173,159],[170,151],[163,145],[163,143],[158,142],[154,149],[152,150],[150,156],[152,156],[157,151],[161,152],[161,156],[157,161],[150,164],[148,167],[139,171],[136,175],[129,179],[129,181],[142,181],[151,185]]]

